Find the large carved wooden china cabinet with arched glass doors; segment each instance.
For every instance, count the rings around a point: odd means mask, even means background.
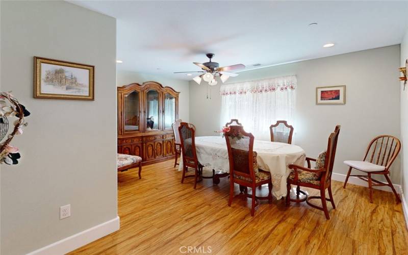
[[[143,165],[174,157],[179,93],[157,82],[118,87],[118,153],[140,156]]]

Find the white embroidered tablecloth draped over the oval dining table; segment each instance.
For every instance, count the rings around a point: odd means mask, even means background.
[[[228,151],[225,138],[220,136],[199,136],[195,138],[197,159],[200,164],[216,171],[230,172]],[[303,166],[305,153],[302,148],[293,144],[255,140],[253,151],[257,151],[259,168],[272,175],[273,195],[277,199],[286,196],[286,179],[290,173],[288,166]],[[180,160],[179,170],[183,169]]]

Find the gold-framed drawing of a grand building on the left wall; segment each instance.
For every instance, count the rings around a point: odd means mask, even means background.
[[[94,100],[94,66],[34,57],[34,97]]]

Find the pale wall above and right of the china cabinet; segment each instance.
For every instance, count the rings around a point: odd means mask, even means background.
[[[172,87],[179,95],[179,118],[188,122],[190,117],[190,86],[188,81],[176,80],[163,75],[140,73],[131,71],[120,71],[117,73],[117,86],[123,86],[131,83],[142,84],[148,81],[154,81],[163,86]]]

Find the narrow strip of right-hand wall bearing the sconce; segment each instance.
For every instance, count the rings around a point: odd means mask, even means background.
[[[401,42],[401,63],[400,66],[405,66],[405,60],[408,59],[408,30]],[[402,74],[400,73],[400,76]],[[400,83],[401,90],[401,142],[402,142],[402,160],[401,160],[401,185],[405,200],[408,201],[408,148],[404,145],[408,144],[408,84],[403,90],[403,83]]]

